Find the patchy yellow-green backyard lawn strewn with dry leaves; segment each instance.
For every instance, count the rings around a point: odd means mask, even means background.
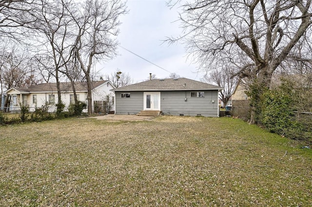
[[[0,127],[0,206],[312,204],[312,151],[238,119]]]

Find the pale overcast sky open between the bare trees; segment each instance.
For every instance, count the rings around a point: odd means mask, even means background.
[[[128,0],[129,13],[120,18],[120,46],[181,77],[199,80],[196,65],[187,61],[187,54],[181,44],[163,43],[166,36],[176,37],[181,34],[177,8],[171,10],[165,0]],[[170,73],[118,47],[115,59],[100,63],[100,74],[111,74],[117,69],[129,73],[134,83],[143,81],[149,74],[157,78],[169,77]]]

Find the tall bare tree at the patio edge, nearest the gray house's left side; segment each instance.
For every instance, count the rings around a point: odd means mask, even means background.
[[[116,56],[118,18],[127,11],[125,3],[120,0],[86,0],[82,8],[82,13],[72,12],[78,28],[75,54],[87,80],[88,113],[91,114],[92,66],[98,58],[112,59]]]

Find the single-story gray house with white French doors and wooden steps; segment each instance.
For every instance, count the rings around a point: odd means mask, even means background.
[[[218,117],[218,92],[222,88],[188,78],[153,79],[112,89],[116,114]]]

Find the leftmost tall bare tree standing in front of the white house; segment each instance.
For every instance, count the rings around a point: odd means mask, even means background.
[[[39,46],[41,46],[40,52],[43,54],[39,56],[46,56],[54,65],[52,71],[49,72],[55,77],[57,83],[57,112],[62,110],[59,84],[61,74],[59,72],[74,54],[74,39],[71,38],[70,32],[73,29],[71,26],[75,22],[68,13],[68,8],[71,8],[72,5],[77,4],[67,0],[42,0],[39,7],[38,21],[34,23],[35,31],[42,35],[41,38],[38,38],[38,42]]]

